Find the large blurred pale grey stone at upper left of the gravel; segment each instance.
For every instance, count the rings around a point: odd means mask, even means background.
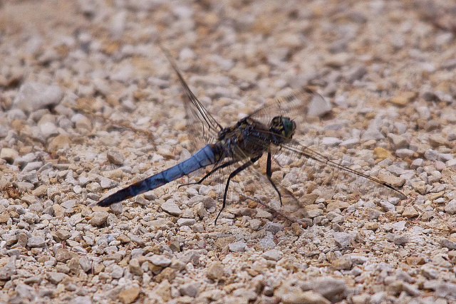
[[[25,112],[54,107],[63,98],[63,91],[58,85],[46,85],[36,81],[27,81],[19,88],[13,105]]]

